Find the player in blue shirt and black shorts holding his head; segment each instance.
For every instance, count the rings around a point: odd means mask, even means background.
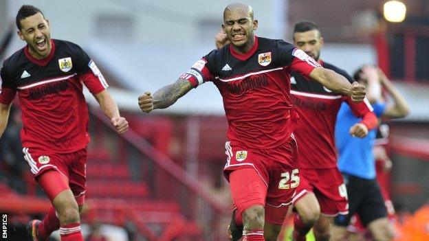
[[[354,78],[366,85],[368,99],[377,117],[391,119],[408,115],[406,100],[380,69],[364,66],[356,71]],[[382,89],[393,99],[393,104],[387,104],[384,100]],[[349,196],[349,214],[337,216],[332,238],[344,240],[351,217],[357,213],[374,240],[391,240],[394,236],[393,225],[388,221],[380,186],[375,179],[373,146],[376,130],[364,139],[350,137],[351,126],[359,121],[352,115],[349,106],[343,104],[338,113],[336,145],[338,167],[344,176]]]

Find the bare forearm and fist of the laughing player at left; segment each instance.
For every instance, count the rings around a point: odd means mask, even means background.
[[[125,133],[128,130],[128,122],[124,117],[120,116],[118,105],[116,104],[113,97],[109,94],[107,90],[101,91],[100,93],[94,95],[100,108],[102,109],[104,115],[109,117],[110,122],[115,126],[116,131],[119,134]]]

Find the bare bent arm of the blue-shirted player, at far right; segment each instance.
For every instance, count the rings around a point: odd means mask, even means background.
[[[408,107],[408,103],[406,102],[404,95],[401,95],[396,87],[392,84],[390,80],[384,75],[384,73],[379,70],[380,80],[386,91],[389,95],[392,96],[393,102],[395,104],[387,106],[386,110],[383,113],[383,117],[387,118],[401,118],[405,117],[410,113],[410,108]]]

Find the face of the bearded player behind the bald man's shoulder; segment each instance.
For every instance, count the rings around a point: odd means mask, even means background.
[[[314,60],[319,60],[320,49],[323,46],[323,38],[318,30],[310,30],[294,34],[294,43],[296,47],[305,51]]]

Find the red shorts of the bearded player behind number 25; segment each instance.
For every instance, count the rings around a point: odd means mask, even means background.
[[[338,168],[300,169],[300,185],[296,187],[294,203],[313,192],[318,199],[320,212],[325,216],[349,213],[347,189]]]

